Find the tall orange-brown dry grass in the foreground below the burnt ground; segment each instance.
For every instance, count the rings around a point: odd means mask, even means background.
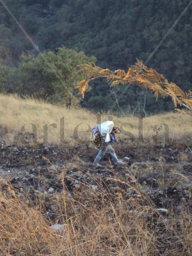
[[[120,181],[130,188],[126,181]],[[8,192],[5,193],[7,189]],[[51,220],[30,199],[21,199],[8,184],[0,193],[0,252],[6,256],[186,256],[192,254],[192,214],[185,205],[178,215],[158,214],[149,199],[135,187],[140,199],[125,200],[122,187],[115,194],[93,191],[84,184],[70,194],[54,195],[56,222],[65,228],[53,231]],[[50,195],[49,195],[50,196]]]

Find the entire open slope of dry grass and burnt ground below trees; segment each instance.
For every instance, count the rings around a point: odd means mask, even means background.
[[[42,127],[62,116],[65,139],[72,141],[60,143],[59,127],[53,127],[43,143]],[[147,117],[142,141],[137,118],[114,117],[119,126],[129,123],[123,128],[135,138],[121,134],[114,145],[124,165],[113,165],[106,154],[97,168],[98,149],[73,134],[82,122],[95,125],[95,114],[0,94],[0,253],[191,256],[190,121],[175,113]],[[169,141],[161,136],[164,127],[153,131],[159,122],[169,125]],[[38,128],[39,143],[20,131],[26,123]]]

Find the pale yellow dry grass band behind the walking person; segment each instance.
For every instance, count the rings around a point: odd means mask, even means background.
[[[85,109],[67,109],[64,107],[53,106],[43,101],[36,101],[33,99],[22,100],[15,95],[0,94],[0,125],[7,129],[6,138],[9,144],[14,141],[14,136],[20,132],[22,126],[25,126],[26,131],[32,131],[33,123],[37,127],[37,140],[39,142],[46,141],[44,137],[43,127],[47,124],[56,124],[57,127],[50,126],[48,128],[48,143],[60,144],[60,118],[65,118],[65,140],[71,141],[71,144],[77,143],[74,139],[74,128],[79,124],[78,133],[79,138],[85,140],[90,138],[90,132],[86,133],[88,125],[92,128],[96,124],[96,116]],[[108,120],[109,115],[102,114],[101,121]],[[113,117],[115,125],[121,126],[132,133],[135,138],[139,134],[139,120],[135,117]],[[82,124],[86,123],[86,124]],[[128,124],[127,124],[128,123]],[[172,139],[184,140],[192,137],[191,116],[167,113],[165,115],[154,115],[143,119],[143,134],[144,138],[152,139],[156,132],[164,132],[163,125],[159,125],[157,131],[154,127],[159,123],[166,123],[169,126],[169,134]],[[132,126],[130,126],[131,124]],[[62,129],[63,130],[63,129]],[[84,131],[82,133],[82,131]],[[121,135],[121,137],[129,138],[129,135]],[[3,138],[2,138],[3,139]]]

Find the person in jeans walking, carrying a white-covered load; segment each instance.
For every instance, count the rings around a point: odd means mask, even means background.
[[[112,148],[112,142],[117,141],[117,134],[119,134],[119,128],[113,125],[113,121],[106,121],[92,129],[92,142],[100,148],[98,155],[95,157],[93,165],[101,167],[99,164],[100,159],[105,155],[106,151],[112,156],[115,165],[123,164],[115,154],[115,150]]]

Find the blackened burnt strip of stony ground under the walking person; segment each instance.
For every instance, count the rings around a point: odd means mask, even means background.
[[[183,204],[190,209],[192,151],[189,147],[124,142],[114,148],[125,165],[114,166],[106,154],[100,162],[102,168],[95,168],[92,162],[98,149],[89,145],[4,146],[0,149],[1,189],[6,189],[4,181],[8,181],[18,195],[27,192],[35,201],[39,195],[59,195],[63,186],[68,193],[75,193],[84,185],[96,191],[98,184],[113,193],[118,185],[126,198],[139,199],[140,195],[134,190],[137,187],[156,209],[175,212]],[[54,219],[50,205],[45,211]]]

